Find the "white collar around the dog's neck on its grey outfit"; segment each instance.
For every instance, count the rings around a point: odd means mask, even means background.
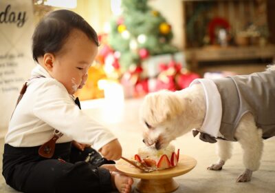
[[[221,127],[222,106],[221,95],[219,94],[217,85],[211,79],[195,79],[189,86],[195,83],[201,83],[206,96],[206,116],[201,128],[197,128],[197,130],[216,138],[218,136],[223,137],[219,132]]]

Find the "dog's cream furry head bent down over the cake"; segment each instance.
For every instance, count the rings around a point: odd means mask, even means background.
[[[140,108],[140,121],[144,124],[144,143],[165,148],[181,134],[180,116],[184,100],[175,92],[162,90],[147,94]]]

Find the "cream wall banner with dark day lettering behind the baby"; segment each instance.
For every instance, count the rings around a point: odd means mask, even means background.
[[[34,12],[31,0],[0,1],[0,137],[17,97],[35,64],[32,59]]]

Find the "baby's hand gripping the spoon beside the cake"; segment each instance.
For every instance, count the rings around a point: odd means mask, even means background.
[[[122,155],[122,148],[118,139],[115,139],[100,148],[99,152],[108,160],[118,160]]]

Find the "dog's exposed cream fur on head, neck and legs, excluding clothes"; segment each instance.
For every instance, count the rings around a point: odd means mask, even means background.
[[[267,70],[275,70],[271,65]],[[155,145],[157,149],[166,147],[178,136],[200,128],[206,114],[206,101],[203,88],[199,84],[184,90],[170,92],[162,90],[148,94],[140,108],[140,119],[146,125],[144,143]],[[245,171],[237,182],[250,181],[252,172],[260,167],[263,152],[261,128],[256,127],[254,116],[245,114],[236,128],[235,138],[243,148]],[[219,161],[208,170],[221,170],[225,161],[232,156],[232,142],[218,140]]]

